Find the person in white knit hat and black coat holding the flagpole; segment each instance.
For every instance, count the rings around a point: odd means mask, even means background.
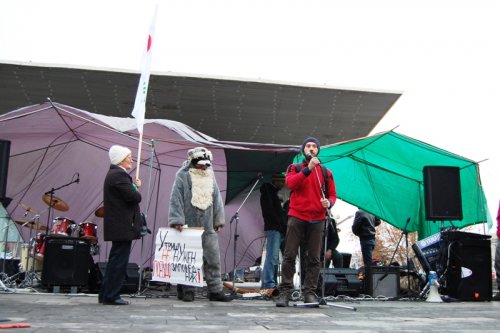
[[[112,146],[109,158],[111,166],[104,180],[104,240],[111,241],[111,250],[99,290],[99,303],[127,305],[129,303],[120,297],[120,289],[127,275],[132,241],[141,237],[141,181],[132,181],[127,173],[132,168],[130,149]]]

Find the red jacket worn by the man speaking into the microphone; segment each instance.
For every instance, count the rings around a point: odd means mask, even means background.
[[[326,217],[326,209],[320,202],[323,197],[320,186],[325,184],[323,172],[320,165],[311,171],[307,164],[304,161],[299,172],[296,170],[296,164],[290,165],[287,169],[286,185],[292,191],[288,215],[304,221],[322,221]],[[327,199],[330,200],[331,207],[337,200],[337,193],[332,172],[328,169],[326,171],[328,175]]]

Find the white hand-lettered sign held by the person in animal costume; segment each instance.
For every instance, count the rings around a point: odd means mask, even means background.
[[[202,233],[203,229],[158,229],[152,280],[202,287]]]

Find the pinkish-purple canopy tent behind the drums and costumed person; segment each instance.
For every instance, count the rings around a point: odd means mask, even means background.
[[[48,224],[49,229],[57,217],[75,224],[95,223],[100,251],[94,255],[94,261],[106,261],[110,244],[103,240],[103,220],[95,211],[102,206],[102,184],[109,168],[108,149],[114,144],[127,146],[136,157],[138,137],[133,118],[92,114],[58,103],[32,105],[1,115],[0,140],[11,141],[7,197],[13,200],[7,211],[12,220],[36,217],[31,212],[25,216],[23,204],[36,211],[39,223]],[[140,167],[141,209],[147,215],[152,234],[145,236],[142,244],[141,240],[134,242],[131,262],[151,265],[156,231],[167,226],[175,173],[186,159],[186,151],[195,146],[212,151],[213,168],[226,200],[227,224],[219,237],[224,272],[234,267],[236,223],[229,223],[231,217],[247,197],[257,174],[262,173],[264,181],[270,180],[273,172],[285,170],[297,151],[295,146],[221,142],[179,122],[146,120]],[[135,176],[135,170],[131,174]],[[79,183],[72,183],[78,176]],[[262,254],[264,232],[259,186],[250,193],[238,214],[235,260],[238,268],[251,266]],[[52,189],[69,209],[52,210],[49,216],[49,206],[42,197]],[[37,231],[15,225],[25,242],[36,236]]]

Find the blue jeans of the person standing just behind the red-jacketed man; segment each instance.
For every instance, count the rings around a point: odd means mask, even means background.
[[[283,252],[285,237],[277,230],[267,230],[266,238],[266,259],[262,271],[262,289],[273,289],[277,286],[279,251]]]

